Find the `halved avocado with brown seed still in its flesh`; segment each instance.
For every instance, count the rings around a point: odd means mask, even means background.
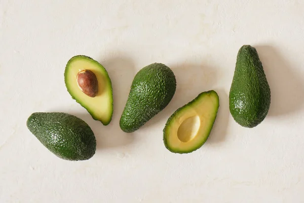
[[[73,99],[103,125],[113,114],[112,83],[105,68],[96,60],[77,55],[65,66],[64,82]]]

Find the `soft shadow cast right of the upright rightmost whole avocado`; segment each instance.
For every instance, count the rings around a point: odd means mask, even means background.
[[[304,102],[302,78],[284,59],[278,49],[269,45],[255,46],[271,90],[268,116],[284,116],[299,111]]]

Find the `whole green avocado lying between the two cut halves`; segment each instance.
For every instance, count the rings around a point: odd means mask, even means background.
[[[120,119],[125,132],[134,132],[161,112],[176,90],[172,70],[163,63],[143,67],[134,77],[126,106]]]

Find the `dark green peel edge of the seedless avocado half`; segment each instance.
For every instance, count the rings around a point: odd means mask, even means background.
[[[214,121],[212,123],[212,125],[210,126],[210,129],[208,131],[208,137],[206,138],[206,140],[204,142],[202,142],[200,145],[197,145],[196,147],[194,147],[191,151],[177,151],[177,150],[172,150],[169,146],[168,146],[168,141],[166,139],[166,130],[169,126],[169,123],[171,121],[172,118],[174,118],[174,116],[179,113],[180,110],[182,110],[183,108],[185,107],[188,107],[188,106],[192,106],[194,103],[196,103],[196,101],[201,97],[201,96],[204,96],[205,94],[214,94],[216,95],[217,99],[219,100],[219,97],[218,97],[218,94],[216,91],[214,90],[209,90],[209,91],[205,91],[205,92],[201,92],[197,97],[195,97],[193,100],[189,101],[187,104],[185,104],[184,106],[178,108],[167,120],[166,124],[165,124],[165,127],[163,129],[163,142],[164,142],[164,145],[165,147],[172,153],[176,153],[176,154],[188,154],[188,153],[192,153],[198,149],[200,149],[207,141],[207,139],[209,138],[210,136],[210,132],[213,128],[213,125],[215,123],[215,120],[216,120],[216,117],[217,117],[217,112],[218,112],[218,108],[219,108],[219,103],[218,105],[216,106],[217,110],[214,112],[215,113],[215,118],[214,118]]]

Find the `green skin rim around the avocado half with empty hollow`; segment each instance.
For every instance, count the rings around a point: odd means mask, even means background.
[[[204,95],[206,95],[206,94],[214,94],[214,95],[216,96],[216,98],[217,98],[217,101],[218,101],[218,105],[215,106],[215,109],[214,109],[214,120],[213,120],[212,124],[211,124],[210,126],[208,126],[209,128],[206,129],[206,130],[207,130],[207,136],[202,140],[201,143],[197,143],[197,145],[196,145],[194,148],[192,148],[191,150],[189,150],[189,151],[185,151],[185,150],[178,151],[178,150],[175,150],[175,149],[170,148],[169,145],[168,145],[168,141],[167,141],[167,139],[166,139],[166,138],[167,138],[167,136],[166,136],[166,130],[167,130],[167,128],[169,128],[169,127],[171,126],[170,123],[171,123],[172,118],[174,118],[177,114],[179,114],[181,110],[183,110],[183,109],[185,109],[185,108],[187,108],[187,107],[191,107],[194,103],[197,102],[197,100],[198,100],[199,98],[201,98],[202,96],[204,96]],[[214,122],[215,122],[216,117],[217,117],[218,108],[219,108],[219,97],[218,97],[218,94],[216,93],[216,91],[214,91],[214,90],[202,92],[202,93],[200,93],[197,97],[195,97],[192,101],[189,101],[189,103],[187,103],[187,104],[185,104],[184,106],[178,108],[178,109],[177,109],[177,110],[168,118],[168,120],[167,120],[167,122],[166,122],[166,125],[165,125],[165,127],[164,127],[164,130],[163,130],[163,141],[164,141],[165,147],[166,147],[170,152],[172,152],[172,153],[177,153],[177,154],[187,154],[187,153],[194,152],[194,151],[198,150],[199,148],[201,148],[201,147],[206,143],[207,139],[208,139],[209,136],[210,136],[211,130],[212,130],[212,128],[213,128]]]

